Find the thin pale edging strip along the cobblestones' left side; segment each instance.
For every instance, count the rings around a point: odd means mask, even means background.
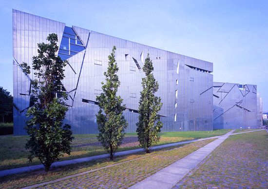
[[[211,139],[208,139],[208,140],[211,140]],[[186,145],[186,146],[183,146],[183,147],[189,147],[191,145],[202,143],[202,142],[205,142],[205,141],[208,141],[208,140],[199,141],[199,142],[192,143],[190,145]],[[169,149],[169,150],[166,150],[166,151],[161,151],[161,152],[158,152],[158,153],[154,153],[154,154],[147,155],[147,156],[144,156],[144,157],[136,158],[136,159],[133,159],[133,160],[128,160],[128,161],[120,162],[120,163],[113,164],[113,165],[110,165],[110,166],[105,166],[105,167],[102,167],[102,168],[96,168],[96,169],[93,169],[93,170],[88,170],[88,171],[85,171],[85,172],[80,172],[80,173],[77,173],[77,174],[74,174],[74,175],[69,175],[69,176],[66,176],[66,177],[63,177],[63,178],[59,178],[59,179],[56,179],[56,180],[53,180],[53,181],[48,181],[48,182],[40,183],[40,184],[37,184],[37,185],[28,186],[28,187],[25,187],[25,188],[22,188],[22,189],[31,189],[31,188],[34,188],[34,187],[40,187],[40,186],[43,186],[43,185],[47,185],[47,184],[55,183],[55,182],[58,182],[58,181],[66,180],[66,179],[69,179],[69,178],[72,178],[72,177],[77,177],[77,176],[80,176],[80,175],[83,175],[83,174],[87,174],[87,173],[90,173],[90,172],[94,172],[94,171],[97,171],[97,170],[101,170],[101,169],[104,169],[104,168],[114,167],[114,166],[117,166],[117,165],[121,165],[121,164],[124,164],[124,163],[132,162],[132,161],[143,159],[143,158],[147,158],[147,157],[150,157],[150,156],[153,156],[153,155],[165,153],[165,152],[172,151],[172,150],[175,150],[175,149],[178,149],[178,148],[183,148],[183,147],[176,147],[174,149]]]

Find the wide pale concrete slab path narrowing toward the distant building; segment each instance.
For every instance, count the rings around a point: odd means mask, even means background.
[[[192,168],[195,168],[205,157],[216,147],[227,139],[235,129],[220,136],[210,144],[197,149],[188,156],[176,161],[172,165],[163,168],[155,174],[147,177],[129,189],[171,189],[178,183]]]

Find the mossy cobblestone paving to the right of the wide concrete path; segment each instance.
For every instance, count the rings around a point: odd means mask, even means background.
[[[173,189],[268,189],[267,132],[230,136]]]

